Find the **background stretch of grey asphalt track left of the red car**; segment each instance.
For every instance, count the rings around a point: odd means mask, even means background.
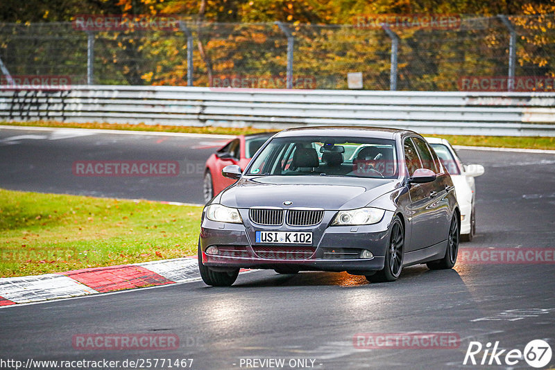
[[[0,130],[0,186],[42,193],[203,203],[206,159],[221,136],[99,134],[90,130]],[[178,162],[177,176],[82,176],[87,161]]]

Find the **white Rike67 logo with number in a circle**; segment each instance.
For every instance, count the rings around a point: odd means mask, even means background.
[[[499,341],[491,346],[488,342],[484,347],[480,342],[470,342],[466,355],[464,356],[463,365],[480,364],[480,365],[506,365],[514,366],[522,359],[531,367],[539,369],[549,364],[552,358],[551,346],[545,340],[531,340],[524,351],[520,349],[499,349]]]

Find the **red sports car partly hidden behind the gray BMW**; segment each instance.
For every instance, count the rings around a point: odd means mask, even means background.
[[[204,171],[203,195],[205,202],[237,181],[223,177],[221,175],[222,168],[230,164],[237,164],[241,170],[244,170],[255,152],[273,134],[275,132],[237,136],[211,155],[206,161]]]

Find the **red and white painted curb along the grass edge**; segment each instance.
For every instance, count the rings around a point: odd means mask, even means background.
[[[0,278],[0,306],[186,283],[199,279],[196,257]]]

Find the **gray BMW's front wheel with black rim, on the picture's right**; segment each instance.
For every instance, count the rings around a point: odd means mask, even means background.
[[[398,216],[395,216],[389,232],[389,244],[386,250],[384,268],[373,275],[366,275],[372,283],[385,283],[398,279],[403,269],[404,229]]]

